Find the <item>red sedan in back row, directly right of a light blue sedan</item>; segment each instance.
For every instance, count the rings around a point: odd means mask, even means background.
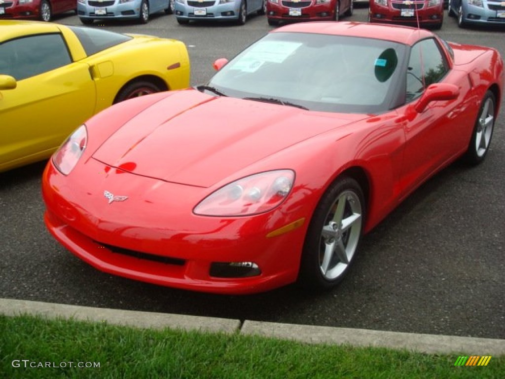
[[[281,21],[338,21],[352,16],[353,0],[266,0],[269,25]]]

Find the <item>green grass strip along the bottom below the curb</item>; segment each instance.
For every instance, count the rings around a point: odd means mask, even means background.
[[[479,354],[481,352],[466,352]],[[238,334],[152,330],[0,315],[0,378],[496,378],[505,356],[455,367],[457,355],[309,345]],[[24,367],[51,362],[67,367]],[[20,367],[12,362],[19,360]],[[30,365],[30,362],[27,365]],[[69,367],[68,362],[99,362]]]

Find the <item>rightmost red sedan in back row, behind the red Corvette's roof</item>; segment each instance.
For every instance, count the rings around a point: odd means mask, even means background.
[[[370,0],[369,22],[440,29],[443,0]]]

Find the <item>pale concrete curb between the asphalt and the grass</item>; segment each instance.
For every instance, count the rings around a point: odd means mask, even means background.
[[[0,299],[0,313],[7,316],[28,313],[46,318],[107,321],[110,324],[140,328],[168,327],[227,334],[239,331],[242,335],[257,335],[311,344],[385,347],[429,354],[505,355],[505,340],[491,338],[438,336],[249,320],[241,326],[240,320],[227,318],[81,307],[15,299]]]

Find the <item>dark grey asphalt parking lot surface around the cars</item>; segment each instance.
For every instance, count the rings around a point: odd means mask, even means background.
[[[351,18],[365,21],[367,9]],[[446,16],[446,14],[445,14]],[[74,16],[55,21],[79,25]],[[147,25],[111,23],[119,32],[180,39],[192,60],[191,83],[212,75],[271,27],[264,16],[245,26],[178,25],[161,13]],[[446,17],[437,31],[505,55],[505,29],[459,29]],[[288,286],[254,296],[173,290],[115,277],[75,258],[46,232],[40,175],[44,163],[0,174],[0,297],[258,321],[505,338],[505,113],[478,167],[456,163],[426,182],[365,236],[341,285],[314,294]],[[1,121],[0,121],[1,122]],[[0,124],[1,127],[1,124]]]

